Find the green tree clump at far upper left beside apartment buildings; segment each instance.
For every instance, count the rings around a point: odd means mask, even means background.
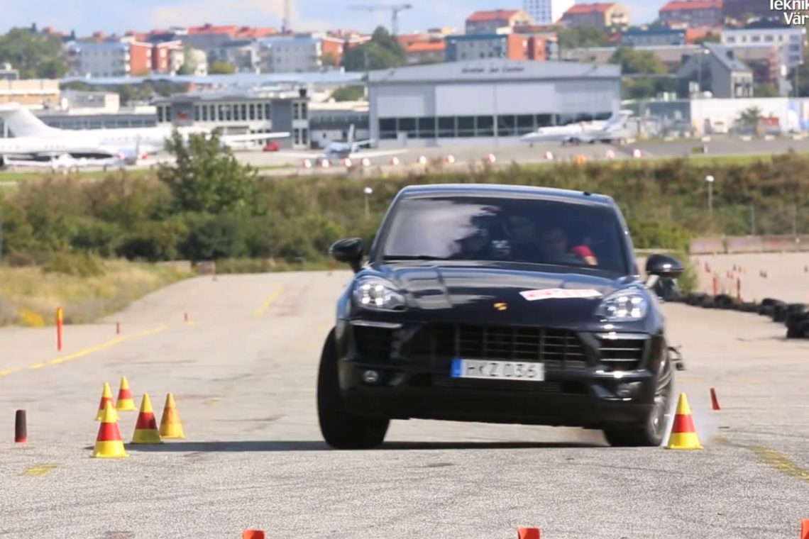
[[[62,78],[68,70],[61,40],[27,28],[14,28],[0,36],[0,62],[19,69],[21,78]]]

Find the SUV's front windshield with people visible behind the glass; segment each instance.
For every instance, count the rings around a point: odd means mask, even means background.
[[[434,196],[401,200],[386,260],[469,260],[593,267],[629,273],[611,208],[557,200]]]

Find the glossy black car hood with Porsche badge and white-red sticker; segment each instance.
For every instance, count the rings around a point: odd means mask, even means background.
[[[566,326],[595,322],[599,303],[630,280],[559,267],[445,267],[393,264],[386,268],[411,308],[464,322]]]

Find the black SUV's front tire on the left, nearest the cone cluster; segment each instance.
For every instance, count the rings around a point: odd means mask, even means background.
[[[336,449],[375,448],[385,440],[390,425],[389,419],[366,418],[345,410],[337,374],[337,343],[333,329],[320,355],[317,415],[325,442]]]

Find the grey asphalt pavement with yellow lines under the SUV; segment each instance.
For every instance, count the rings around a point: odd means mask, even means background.
[[[664,305],[701,450],[428,421],[394,422],[381,449],[328,449],[316,367],[349,277],[199,277],[66,327],[61,352],[53,328],[0,330],[0,537],[747,539],[798,537],[809,518],[809,341],[752,314]],[[130,445],[138,413],[121,412],[129,457],[91,458],[121,376],[158,421],[173,392],[185,439]]]

